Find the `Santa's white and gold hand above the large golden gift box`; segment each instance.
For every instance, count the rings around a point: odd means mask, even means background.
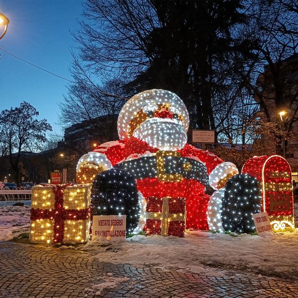
[[[99,152],[88,152],[83,155],[76,166],[76,182],[92,183],[96,175],[112,169],[112,164],[106,155]]]

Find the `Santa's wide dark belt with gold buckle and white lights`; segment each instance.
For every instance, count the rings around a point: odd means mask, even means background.
[[[175,151],[157,151],[155,156],[124,161],[119,166],[134,179],[157,177],[162,182],[179,182],[186,178],[208,185],[205,165],[200,161],[181,157]]]

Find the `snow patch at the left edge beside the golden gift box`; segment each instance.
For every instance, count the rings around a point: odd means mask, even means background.
[[[21,233],[29,233],[28,206],[0,206],[0,240],[11,240]]]

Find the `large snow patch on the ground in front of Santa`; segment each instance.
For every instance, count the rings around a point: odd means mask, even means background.
[[[297,247],[298,229],[267,237],[232,237],[203,231],[189,231],[184,238],[136,235],[125,242],[89,242],[80,250],[92,252],[99,262],[152,265],[205,274],[217,267],[298,279]]]

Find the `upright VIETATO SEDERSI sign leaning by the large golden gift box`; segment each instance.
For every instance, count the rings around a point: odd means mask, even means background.
[[[126,215],[94,215],[92,240],[123,241],[126,239]]]

